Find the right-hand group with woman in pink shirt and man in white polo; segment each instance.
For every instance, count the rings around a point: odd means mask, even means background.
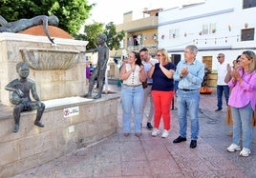
[[[224,54],[218,55],[218,109],[222,110],[222,95],[227,110],[228,124],[233,125],[232,144],[226,148],[229,152],[240,151],[241,156],[249,156],[252,142],[253,117],[256,106],[256,55],[245,50],[234,61],[233,66],[224,62]],[[242,138],[242,139],[241,139]],[[241,148],[242,140],[242,148]]]

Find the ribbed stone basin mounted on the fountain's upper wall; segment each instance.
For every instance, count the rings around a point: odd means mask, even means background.
[[[72,69],[79,60],[79,51],[71,49],[20,48],[22,59],[32,69]]]

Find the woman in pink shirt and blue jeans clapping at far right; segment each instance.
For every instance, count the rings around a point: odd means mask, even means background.
[[[228,82],[232,92],[228,99],[233,116],[233,143],[227,151],[241,150],[240,141],[243,132],[243,149],[241,156],[249,156],[252,141],[252,113],[256,106],[256,56],[251,50],[246,50],[240,58],[240,67],[232,71]]]

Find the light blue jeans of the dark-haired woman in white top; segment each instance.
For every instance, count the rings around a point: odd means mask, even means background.
[[[142,86],[127,87],[122,86],[121,104],[122,104],[122,124],[125,133],[131,132],[132,109],[134,110],[135,132],[141,132],[140,123],[142,121],[144,92]]]

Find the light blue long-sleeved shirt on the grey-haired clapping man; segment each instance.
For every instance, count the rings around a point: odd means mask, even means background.
[[[188,74],[180,77],[181,68],[186,67]],[[192,64],[187,64],[185,60],[181,60],[174,73],[174,80],[179,81],[179,89],[200,89],[204,77],[204,65],[202,62],[194,60]]]

